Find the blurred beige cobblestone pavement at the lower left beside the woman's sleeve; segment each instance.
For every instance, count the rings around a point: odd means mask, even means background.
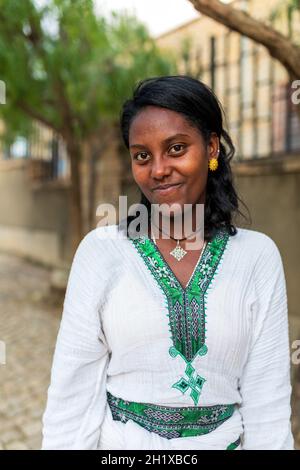
[[[50,273],[0,254],[0,450],[40,449],[41,417],[56,335],[59,302],[46,301]]]

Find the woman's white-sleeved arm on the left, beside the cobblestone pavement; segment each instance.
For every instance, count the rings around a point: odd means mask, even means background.
[[[95,293],[94,232],[79,244],[69,274],[43,415],[42,449],[95,449],[106,406],[108,350]],[[101,295],[104,282],[97,278]],[[99,296],[98,296],[99,298]]]

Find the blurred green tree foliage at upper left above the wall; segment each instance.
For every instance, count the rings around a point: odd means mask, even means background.
[[[116,120],[138,80],[175,73],[135,17],[96,15],[91,0],[0,0],[0,113],[5,139],[28,135],[31,121],[88,139]]]

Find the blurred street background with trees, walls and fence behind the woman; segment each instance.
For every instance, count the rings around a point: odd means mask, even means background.
[[[120,107],[179,73],[221,101],[247,228],[282,255],[300,448],[300,1],[0,0],[0,449],[40,448],[74,251],[139,201]]]

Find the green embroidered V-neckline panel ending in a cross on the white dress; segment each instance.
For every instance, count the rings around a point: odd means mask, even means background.
[[[190,396],[195,405],[199,401],[203,384],[206,381],[195,373],[192,366],[197,355],[207,354],[205,295],[217,272],[228,239],[227,230],[222,228],[213,240],[207,243],[200,262],[185,289],[150,238],[140,236],[131,239],[166,297],[173,342],[169,354],[174,358],[179,355],[186,363],[185,374],[187,377],[181,377],[172,387],[182,393],[190,390]]]

